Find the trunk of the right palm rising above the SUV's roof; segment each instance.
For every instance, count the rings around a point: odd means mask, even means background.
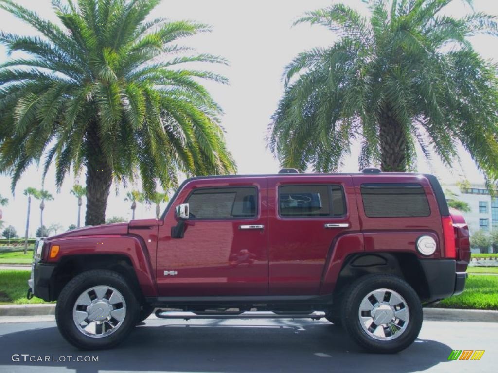
[[[380,168],[384,172],[406,172],[406,134],[391,111],[380,114]]]

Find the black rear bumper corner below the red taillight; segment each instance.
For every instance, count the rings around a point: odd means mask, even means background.
[[[448,298],[461,294],[465,289],[467,273],[456,272],[456,262],[447,259],[426,259],[420,264],[425,273],[429,289],[427,302]]]

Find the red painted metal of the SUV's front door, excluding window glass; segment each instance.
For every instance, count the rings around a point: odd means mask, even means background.
[[[171,239],[178,218],[174,208],[159,227],[157,287],[163,296],[266,295],[268,293],[268,179],[266,177],[190,182],[174,205],[184,203],[192,190],[203,187],[252,186],[258,191],[257,216],[238,219],[189,219],[185,236]],[[245,224],[263,225],[242,230]],[[242,258],[242,259],[241,259]],[[164,271],[176,271],[165,276]]]

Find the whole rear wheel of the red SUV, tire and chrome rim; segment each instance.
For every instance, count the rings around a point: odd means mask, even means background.
[[[417,338],[422,305],[404,280],[391,275],[368,275],[356,280],[342,304],[343,325],[369,351],[395,353]]]

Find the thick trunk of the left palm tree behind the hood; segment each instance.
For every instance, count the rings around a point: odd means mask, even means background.
[[[105,161],[96,126],[87,131],[87,211],[85,225],[106,222],[106,207],[113,181],[110,165]]]

